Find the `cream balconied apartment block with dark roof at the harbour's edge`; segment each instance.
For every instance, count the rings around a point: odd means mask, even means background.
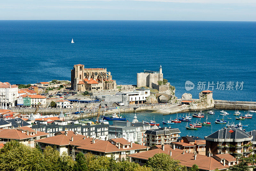
[[[178,128],[158,128],[154,130],[146,130],[145,140],[146,146],[171,144],[176,142],[180,137],[180,130]]]

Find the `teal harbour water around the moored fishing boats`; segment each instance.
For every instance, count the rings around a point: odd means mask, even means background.
[[[226,115],[226,116],[220,115],[219,109],[211,109],[211,110],[215,113],[215,115],[207,114],[207,112],[210,111],[210,110],[207,110],[207,111],[203,111],[204,118],[201,118],[201,120],[200,120],[200,118],[193,117],[191,119],[191,122],[181,122],[181,123],[174,123],[174,124],[163,124],[162,121],[170,120],[171,118],[175,119],[175,118],[177,118],[177,114],[162,115],[162,114],[158,114],[158,113],[154,113],[154,112],[150,112],[150,111],[142,111],[142,112],[136,112],[136,116],[137,116],[138,121],[140,121],[140,122],[142,122],[142,121],[149,122],[149,120],[155,119],[156,123],[160,123],[159,126],[161,128],[162,127],[179,128],[179,130],[181,132],[180,136],[192,135],[192,136],[198,136],[203,139],[205,136],[208,136],[211,133],[214,133],[215,131],[226,127],[226,124],[215,123],[214,121],[216,121],[217,118],[222,119],[224,117],[224,119],[227,121],[227,124],[228,124],[228,122],[229,122],[229,124],[230,123],[238,124],[239,122],[241,122],[242,125],[248,125],[248,127],[243,128],[243,129],[245,129],[246,132],[255,130],[255,128],[256,128],[256,126],[255,126],[256,125],[256,123],[255,123],[256,113],[251,113],[251,114],[253,114],[251,119],[236,120],[235,117],[237,117],[237,116],[233,115],[235,110],[225,110],[226,112],[229,113],[229,115]],[[247,114],[247,111],[244,111],[244,110],[241,110],[241,111],[239,110],[239,112],[241,112],[243,115]],[[195,113],[198,113],[198,112],[190,112],[190,116],[192,116]],[[131,122],[133,120],[134,114],[135,113],[124,113],[123,115],[126,117],[126,119],[128,121]],[[188,113],[179,113],[178,118],[180,116],[186,116],[186,115],[188,115]],[[187,126],[187,124],[189,126],[189,124],[196,123],[197,121],[203,123],[204,121],[206,121],[206,116],[208,117],[207,121],[211,122],[211,126],[202,126],[201,128],[197,128],[197,130],[187,130],[185,128],[185,126]],[[231,119],[228,119],[228,118],[231,118]],[[94,118],[94,119],[96,119],[96,118]],[[113,121],[109,121],[109,124],[112,125]]]

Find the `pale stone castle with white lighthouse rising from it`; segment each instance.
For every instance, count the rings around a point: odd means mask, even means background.
[[[163,81],[162,66],[159,71],[147,71],[137,73],[137,87],[152,88],[152,83],[158,85],[157,81]]]

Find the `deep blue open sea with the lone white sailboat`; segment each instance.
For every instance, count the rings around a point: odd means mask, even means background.
[[[207,89],[213,81],[214,99],[256,101],[256,22],[0,21],[0,41],[1,82],[70,80],[81,63],[107,68],[117,84],[136,84],[137,72],[162,65],[178,98],[197,98],[198,82]],[[231,89],[216,89],[218,81],[231,81]]]

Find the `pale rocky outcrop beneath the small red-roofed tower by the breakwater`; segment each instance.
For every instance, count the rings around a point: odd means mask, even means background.
[[[199,93],[199,99],[192,101],[189,105],[189,109],[191,110],[204,110],[214,107],[214,100],[212,98],[212,93],[203,94]]]

